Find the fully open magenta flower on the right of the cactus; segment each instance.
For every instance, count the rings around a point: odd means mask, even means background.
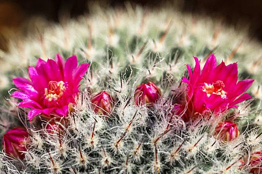
[[[190,117],[195,118],[210,111],[218,113],[237,108],[236,104],[252,98],[248,93],[241,95],[251,87],[254,80],[238,82],[237,63],[226,66],[222,61],[217,66],[217,59],[212,54],[201,71],[198,58],[194,58],[196,66],[193,73],[187,65],[189,80],[185,77],[182,80],[188,84],[187,113]]]

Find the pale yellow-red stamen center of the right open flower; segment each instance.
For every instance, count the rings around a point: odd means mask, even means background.
[[[211,94],[220,95],[221,98],[227,98],[227,92],[222,88],[225,87],[225,84],[222,81],[216,81],[212,84],[204,83],[202,90],[207,93],[207,96],[210,97]]]

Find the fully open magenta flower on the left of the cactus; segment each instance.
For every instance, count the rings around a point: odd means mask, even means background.
[[[77,66],[76,56],[65,60],[56,54],[55,61],[38,59],[36,67],[29,67],[30,80],[19,77],[13,79],[16,87],[23,90],[14,91],[11,96],[23,99],[18,107],[32,108],[28,112],[31,120],[37,114],[65,116],[68,104],[75,103],[79,83],[85,75],[89,64]]]

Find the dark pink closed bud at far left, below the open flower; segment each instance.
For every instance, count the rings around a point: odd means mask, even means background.
[[[28,142],[26,129],[14,127],[3,135],[2,149],[8,156],[23,160],[23,151],[26,151]]]

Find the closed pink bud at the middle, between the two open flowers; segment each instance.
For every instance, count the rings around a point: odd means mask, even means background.
[[[152,82],[149,82],[148,84],[142,84],[136,88],[134,101],[136,105],[150,105],[156,103],[160,96],[160,89]]]

